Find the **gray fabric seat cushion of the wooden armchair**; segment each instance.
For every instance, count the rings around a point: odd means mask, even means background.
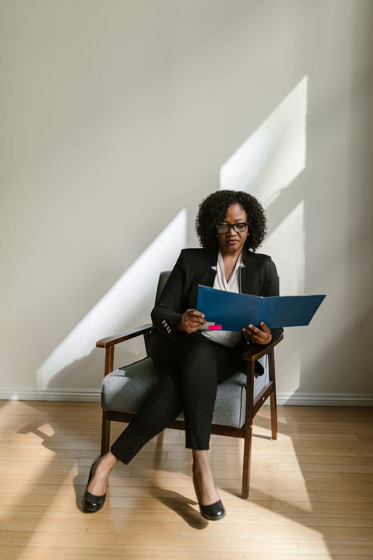
[[[268,382],[267,357],[260,360],[265,372],[254,379],[254,398]],[[122,367],[108,374],[102,382],[101,406],[106,412],[135,413],[159,380],[151,358]],[[213,424],[240,428],[245,421],[246,376],[237,371],[218,385]],[[183,415],[178,419],[183,419]]]

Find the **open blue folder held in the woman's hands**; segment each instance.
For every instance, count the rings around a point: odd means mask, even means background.
[[[242,330],[264,321],[271,329],[308,325],[324,299],[319,296],[251,296],[199,285],[197,309],[222,330]]]

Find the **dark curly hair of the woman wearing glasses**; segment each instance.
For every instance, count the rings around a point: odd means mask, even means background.
[[[196,232],[201,247],[212,249],[219,245],[216,227],[224,222],[232,204],[239,204],[247,214],[249,225],[245,247],[255,251],[262,244],[267,234],[267,220],[261,203],[242,190],[218,190],[202,200],[196,217]]]

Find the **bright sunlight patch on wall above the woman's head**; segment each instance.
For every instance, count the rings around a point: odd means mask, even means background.
[[[220,189],[244,190],[264,206],[305,169],[305,76],[220,169]]]

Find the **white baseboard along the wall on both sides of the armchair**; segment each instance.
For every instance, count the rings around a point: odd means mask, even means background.
[[[0,400],[65,400],[100,402],[97,389],[0,389]],[[373,407],[372,393],[280,393],[278,405]]]

